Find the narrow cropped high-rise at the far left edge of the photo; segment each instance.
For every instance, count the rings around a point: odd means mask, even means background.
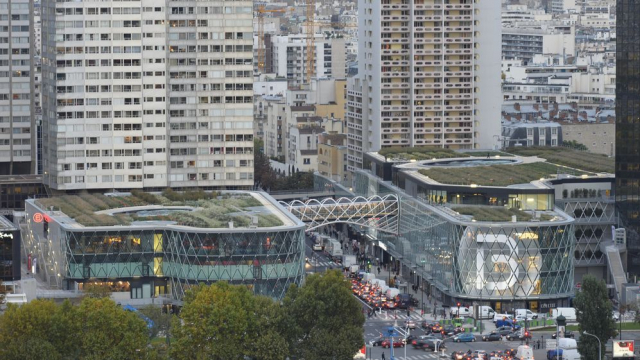
[[[0,175],[36,171],[33,2],[0,0]]]

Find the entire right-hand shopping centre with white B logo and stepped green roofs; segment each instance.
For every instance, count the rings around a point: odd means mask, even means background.
[[[398,235],[369,232],[375,257],[444,303],[496,311],[569,306],[585,273],[610,281],[612,175],[538,157],[443,152],[365,154],[357,195],[400,198]]]

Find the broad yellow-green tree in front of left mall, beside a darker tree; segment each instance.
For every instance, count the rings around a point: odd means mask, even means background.
[[[187,292],[181,320],[174,319],[171,325],[173,358],[284,358],[263,339],[268,336],[275,345],[282,342],[271,324],[271,315],[277,312],[272,307],[273,300],[269,299],[269,303],[257,299],[246,286],[232,286],[224,281],[200,285]]]

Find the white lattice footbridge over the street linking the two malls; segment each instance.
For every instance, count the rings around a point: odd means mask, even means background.
[[[333,223],[348,223],[375,228],[384,233],[398,233],[399,205],[398,197],[394,194],[310,199],[304,202],[295,200],[281,204],[302,222],[307,223],[307,230]]]

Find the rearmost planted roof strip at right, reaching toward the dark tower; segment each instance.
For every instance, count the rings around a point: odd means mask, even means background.
[[[519,156],[537,156],[548,162],[579,170],[607,173],[615,171],[613,158],[564,147],[511,147],[506,152]]]

